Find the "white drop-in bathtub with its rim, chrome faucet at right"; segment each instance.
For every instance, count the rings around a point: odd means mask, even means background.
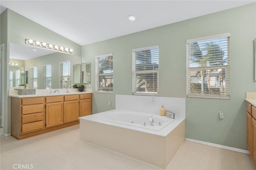
[[[154,120],[154,126],[150,125],[149,117],[151,117]],[[143,113],[143,112],[126,111],[126,110],[106,111],[106,112],[91,115],[90,117],[84,117],[82,119],[90,119],[90,118],[92,118],[92,120],[94,119],[94,120],[118,123],[119,126],[128,125],[131,127],[145,128],[145,129],[150,129],[154,131],[161,130],[162,128],[166,127],[172,121],[175,120],[166,116],[160,116],[156,114]]]

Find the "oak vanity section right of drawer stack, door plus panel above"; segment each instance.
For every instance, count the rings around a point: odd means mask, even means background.
[[[64,96],[49,96],[46,98],[46,128],[62,125]]]

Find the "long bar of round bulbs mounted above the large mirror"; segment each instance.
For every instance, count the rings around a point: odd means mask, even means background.
[[[28,40],[25,39],[25,43],[26,44],[30,44],[30,45],[35,45],[38,47],[44,47],[44,48],[49,48],[49,49],[55,49],[58,51],[64,51],[64,52],[68,52],[68,53],[72,53],[73,49],[72,48],[66,48],[66,47],[59,47],[58,45],[52,45],[52,44],[48,44],[45,42],[38,42],[38,41],[34,41],[34,40]]]

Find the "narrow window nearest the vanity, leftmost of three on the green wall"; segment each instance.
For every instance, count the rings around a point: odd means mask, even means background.
[[[96,93],[113,93],[113,53],[96,56]]]

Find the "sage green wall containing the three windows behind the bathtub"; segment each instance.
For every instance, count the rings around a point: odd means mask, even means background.
[[[230,100],[186,98],[186,40],[228,32]],[[115,109],[116,94],[132,95],[132,49],[159,45],[159,95],[186,98],[186,138],[247,150],[244,98],[256,91],[254,38],[256,3],[84,45],[82,62],[92,63],[93,113]],[[113,94],[95,93],[95,56],[106,53],[114,53]]]

